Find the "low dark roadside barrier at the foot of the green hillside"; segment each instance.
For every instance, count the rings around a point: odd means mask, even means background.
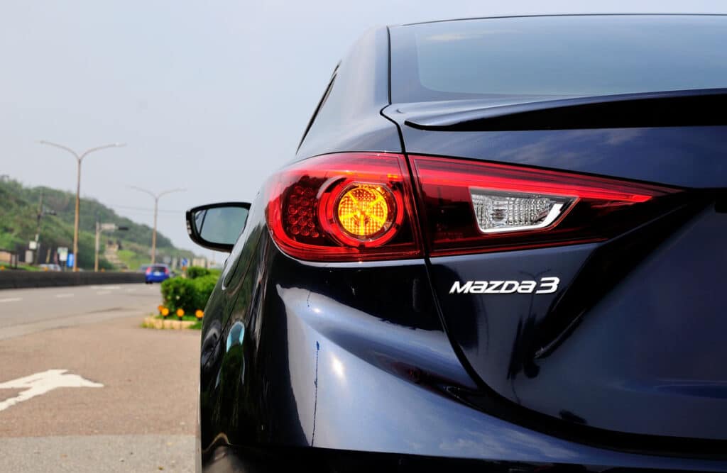
[[[0,271],[0,289],[87,286],[90,284],[143,283],[141,272]]]

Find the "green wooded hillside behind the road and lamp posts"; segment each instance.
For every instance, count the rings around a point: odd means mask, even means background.
[[[50,187],[25,187],[12,179],[0,180],[0,248],[14,251],[18,246],[27,246],[36,234],[36,214],[39,197],[43,192],[45,209],[56,215],[44,215],[41,219],[41,248],[73,247],[73,217],[76,195]],[[120,217],[113,209],[95,199],[81,198],[79,227],[79,267],[92,269],[94,264],[94,242],[96,218],[100,222],[115,223],[129,227],[127,231],[104,232],[101,238],[102,255],[100,267],[113,269],[103,259],[106,240],[121,240],[119,258],[135,270],[140,264],[149,262],[152,229],[126,217]],[[192,258],[193,252],[174,247],[172,241],[161,233],[156,234],[157,261],[164,256]],[[45,262],[47,250],[41,250],[41,262]]]

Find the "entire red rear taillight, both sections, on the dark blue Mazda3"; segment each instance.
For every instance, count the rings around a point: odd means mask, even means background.
[[[280,171],[266,187],[273,240],[310,261],[414,258],[424,256],[425,246],[441,256],[587,243],[657,217],[662,198],[677,191],[522,166],[409,158],[418,212],[403,155],[322,155]]]

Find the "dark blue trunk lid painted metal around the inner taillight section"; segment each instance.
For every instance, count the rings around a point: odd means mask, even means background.
[[[695,116],[695,104],[710,95],[725,97],[690,92],[629,97],[625,104],[561,97],[559,110],[551,100],[384,110],[401,127],[410,156],[595,174],[681,187],[688,195],[672,211],[606,241],[430,258],[451,341],[499,397],[569,424],[727,439],[727,126],[723,118],[692,123],[677,113]],[[580,107],[584,122],[589,113],[601,116],[577,128],[569,103]],[[640,110],[631,114],[633,126],[616,128],[630,108]],[[557,129],[547,129],[550,120]],[[467,281],[541,278],[558,278],[557,291],[452,291]]]

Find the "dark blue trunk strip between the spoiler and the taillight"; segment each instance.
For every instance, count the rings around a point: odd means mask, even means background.
[[[406,151],[658,182],[676,187],[727,187],[727,126],[426,132],[390,105]]]

